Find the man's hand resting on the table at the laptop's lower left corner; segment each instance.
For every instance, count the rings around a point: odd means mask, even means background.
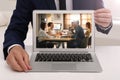
[[[31,70],[29,56],[27,52],[20,46],[15,46],[10,50],[6,61],[7,64],[15,71],[26,72]]]

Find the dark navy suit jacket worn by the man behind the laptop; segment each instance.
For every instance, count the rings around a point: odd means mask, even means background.
[[[74,0],[73,10],[96,10],[103,8],[102,0]],[[55,10],[54,0],[17,0],[16,9],[11,17],[10,24],[5,32],[3,51],[7,57],[7,49],[13,44],[20,44],[24,48],[23,41],[26,38],[28,24],[32,22],[33,10]],[[98,26],[96,29],[102,33],[108,33],[108,30],[102,30]]]

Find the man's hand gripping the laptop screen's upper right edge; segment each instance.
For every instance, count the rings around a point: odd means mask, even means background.
[[[94,15],[95,23],[102,27],[108,27],[112,21],[112,15],[109,9],[98,9],[94,12]]]

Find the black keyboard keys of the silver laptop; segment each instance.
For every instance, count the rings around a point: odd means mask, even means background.
[[[82,54],[50,54],[38,53],[35,58],[36,62],[93,62],[90,53]]]

